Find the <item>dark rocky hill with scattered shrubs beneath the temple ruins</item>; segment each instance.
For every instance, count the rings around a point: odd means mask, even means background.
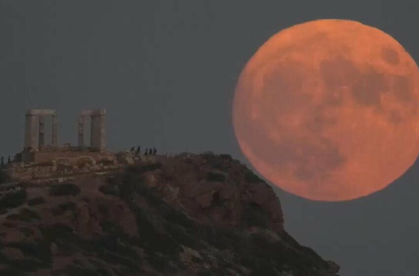
[[[1,184],[0,184],[1,186]],[[0,196],[0,275],[335,276],[229,155],[177,155]]]

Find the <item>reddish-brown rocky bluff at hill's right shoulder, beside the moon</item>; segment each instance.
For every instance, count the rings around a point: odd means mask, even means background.
[[[265,220],[269,229],[283,231],[278,197],[239,162],[211,154],[191,154],[189,158],[176,156],[161,163],[161,169],[145,174],[146,182],[162,190],[170,187],[173,192],[163,196],[173,201],[175,195],[178,206],[192,217],[232,227],[246,223],[251,226],[252,219],[259,219]]]

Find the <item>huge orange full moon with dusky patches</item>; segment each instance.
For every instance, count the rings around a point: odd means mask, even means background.
[[[379,191],[419,153],[419,69],[384,32],[316,20],[272,36],[233,101],[238,143],[266,179],[317,201]]]

